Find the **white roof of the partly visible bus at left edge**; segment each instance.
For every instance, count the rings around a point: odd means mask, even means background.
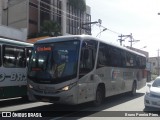
[[[31,43],[17,41],[12,39],[0,38],[0,44],[8,44],[8,45],[19,45],[19,46],[33,46]]]

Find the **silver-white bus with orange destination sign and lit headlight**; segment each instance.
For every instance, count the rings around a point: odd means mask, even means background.
[[[146,57],[106,41],[87,35],[37,41],[28,68],[29,100],[100,105],[108,96],[135,94],[146,83]]]

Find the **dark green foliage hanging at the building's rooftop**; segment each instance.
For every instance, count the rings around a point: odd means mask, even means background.
[[[69,0],[69,4],[75,9],[79,9],[81,11],[86,10],[86,3],[84,0]]]

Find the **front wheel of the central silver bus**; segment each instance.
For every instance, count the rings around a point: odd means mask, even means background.
[[[96,91],[96,98],[93,101],[94,106],[100,106],[104,100],[104,91],[102,88],[98,87]]]

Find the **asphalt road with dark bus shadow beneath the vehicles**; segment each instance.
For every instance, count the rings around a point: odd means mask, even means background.
[[[142,88],[137,91],[135,96],[129,96],[128,94],[121,94],[106,98],[104,103],[99,107],[93,107],[91,103],[85,103],[76,106],[68,105],[55,105],[52,103],[44,102],[28,102],[21,98],[0,100],[0,111],[9,112],[36,112],[42,113],[42,117],[45,115],[50,116],[51,120],[61,119],[111,119],[111,120],[159,120],[159,117],[153,117],[159,115],[158,109],[151,108],[149,110],[144,109],[144,94],[146,88]],[[134,116],[136,115],[136,116]],[[137,117],[137,116],[143,117]],[[144,117],[145,115],[151,115],[152,117]]]

